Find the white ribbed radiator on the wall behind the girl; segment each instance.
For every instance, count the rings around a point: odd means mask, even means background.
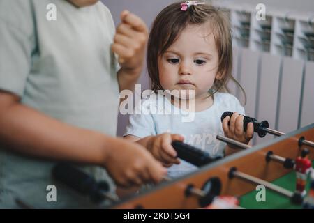
[[[266,20],[259,21],[254,1],[213,3],[230,15],[233,75],[246,91],[246,114],[281,132],[314,123],[314,12],[266,4]],[[253,144],[272,137],[255,138]]]

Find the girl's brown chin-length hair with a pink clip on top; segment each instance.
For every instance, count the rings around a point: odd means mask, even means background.
[[[177,40],[181,31],[186,26],[201,25],[209,22],[213,30],[216,47],[218,49],[218,72],[219,78],[216,77],[214,85],[210,89],[211,95],[220,92],[230,92],[226,84],[228,81],[234,82],[242,93],[244,101],[246,95],[239,82],[232,76],[232,33],[229,18],[219,8],[208,4],[190,6],[186,11],[180,10],[181,3],[172,3],[164,8],[154,20],[147,47],[147,70],[151,79],[151,89],[157,93],[162,90],[159,81],[158,57]],[[244,102],[244,104],[245,104]]]

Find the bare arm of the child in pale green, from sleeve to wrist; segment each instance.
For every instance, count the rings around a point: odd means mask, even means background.
[[[99,165],[106,159],[109,137],[54,120],[5,91],[0,91],[0,126],[1,144],[27,155]]]

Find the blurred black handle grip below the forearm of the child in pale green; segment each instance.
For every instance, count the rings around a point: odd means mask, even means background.
[[[104,192],[109,191],[109,185],[105,181],[97,182],[94,178],[70,164],[59,163],[52,169],[52,176],[68,187],[89,195],[94,202],[105,199]]]

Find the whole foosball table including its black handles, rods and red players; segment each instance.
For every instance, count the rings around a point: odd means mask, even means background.
[[[232,113],[225,112],[221,119],[227,115]],[[267,121],[244,116],[244,128],[249,122],[259,137],[267,133],[277,137],[252,147],[217,135],[218,140],[244,149],[220,160],[174,141],[178,157],[199,169],[181,178],[165,177],[162,183],[122,199],[107,194],[105,182],[97,183],[75,169],[59,166],[53,174],[98,203],[111,200],[105,208],[314,208],[314,171],[304,185],[314,160],[314,123],[285,134],[269,129]]]

